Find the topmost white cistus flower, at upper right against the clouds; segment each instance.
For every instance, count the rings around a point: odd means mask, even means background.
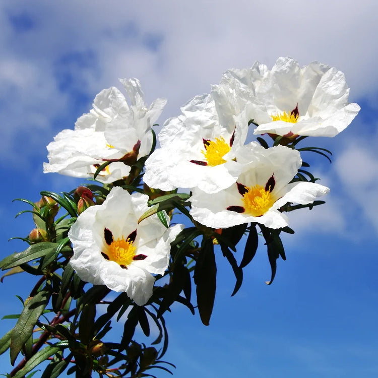
[[[289,57],[278,58],[271,71],[260,62],[250,69],[228,70],[213,91],[228,92],[224,113],[244,112],[247,122],[259,125],[255,135],[334,137],[360,109],[348,103],[341,71],[316,61],[301,68]]]

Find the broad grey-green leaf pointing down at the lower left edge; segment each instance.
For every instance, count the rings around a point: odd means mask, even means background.
[[[32,335],[34,326],[46,307],[50,295],[51,293],[47,290],[42,290],[26,302],[25,307],[21,312],[21,316],[12,330],[10,350],[12,365],[15,363],[15,360],[26,341]]]

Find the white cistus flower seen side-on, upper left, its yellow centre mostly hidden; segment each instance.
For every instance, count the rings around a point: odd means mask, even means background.
[[[102,90],[90,112],[78,118],[75,129],[61,131],[47,146],[49,162],[43,164],[45,173],[93,177],[102,163],[113,161],[97,176],[107,183],[128,176],[130,165],[149,154],[151,127],[166,100],[159,98],[147,108],[137,79],[120,82],[131,104],[115,87]]]

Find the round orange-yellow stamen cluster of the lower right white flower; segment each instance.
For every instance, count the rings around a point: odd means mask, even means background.
[[[271,192],[266,192],[265,188],[255,185],[247,188],[243,196],[245,212],[253,217],[264,215],[275,203]]]

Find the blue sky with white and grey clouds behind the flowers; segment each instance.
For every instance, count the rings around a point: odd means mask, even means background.
[[[255,3],[255,4],[253,4]],[[234,277],[217,255],[218,289],[209,327],[183,306],[166,321],[165,359],[175,376],[375,377],[378,375],[378,71],[374,1],[93,2],[5,0],[0,5],[0,203],[2,256],[25,245],[31,219],[14,198],[71,190],[78,180],[42,173],[45,146],[90,109],[103,88],[137,77],[150,104],[168,99],[160,124],[179,106],[209,92],[229,68],[272,67],[279,56],[301,65],[319,60],[343,71],[350,102],[361,111],[332,139],[333,163],[311,157],[327,204],[290,214],[296,231],[284,239],[271,286],[262,247],[230,297]],[[303,156],[304,160],[308,160]],[[79,182],[82,182],[80,180]],[[0,316],[17,313],[27,275],[0,284]],[[4,334],[13,323],[0,321]],[[2,372],[10,370],[0,356]],[[37,376],[38,374],[34,375]],[[169,376],[161,372],[158,376]]]

